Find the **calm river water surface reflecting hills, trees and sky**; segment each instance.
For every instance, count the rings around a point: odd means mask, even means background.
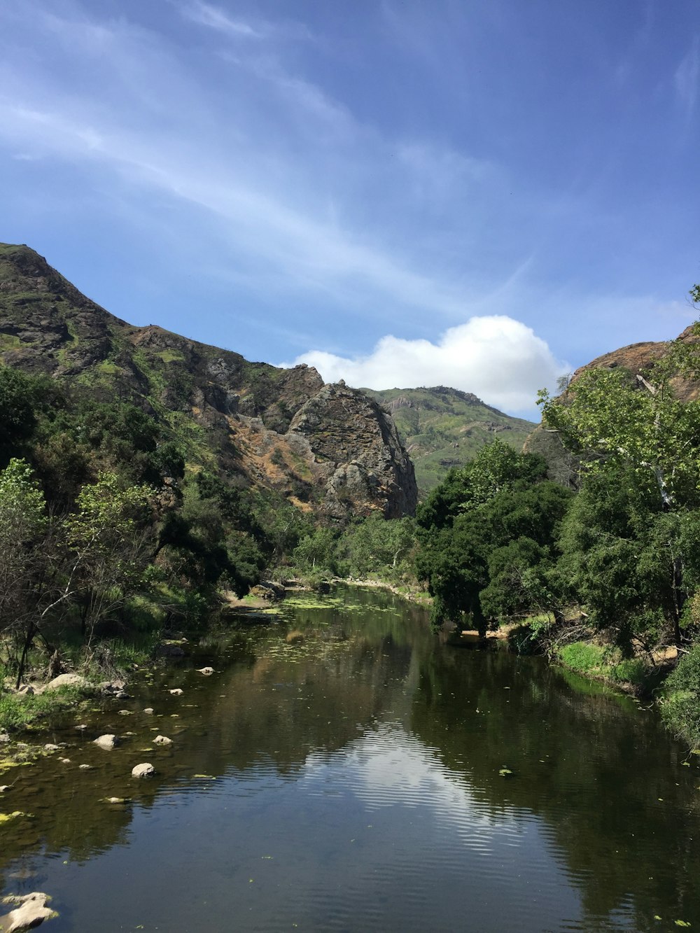
[[[0,888],[52,894],[50,933],[700,931],[700,759],[539,659],[348,590],[132,690],[42,736],[70,764],[2,775],[34,818],[0,829]]]

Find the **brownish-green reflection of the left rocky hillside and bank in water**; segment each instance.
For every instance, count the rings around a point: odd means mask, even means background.
[[[133,805],[149,806],[162,793],[187,786],[194,774],[271,769],[293,777],[310,752],[337,750],[386,710],[399,709],[400,703],[408,708],[404,682],[412,643],[415,638],[424,647],[430,643],[423,613],[406,613],[405,604],[385,593],[358,590],[332,606],[289,612],[273,626],[229,632],[219,645],[218,663],[211,658],[221,674],[203,677],[166,668],[127,704],[132,717],[121,718],[113,709],[94,717],[84,736],[71,725],[37,738],[70,747],[0,779],[15,782],[3,810],[33,815],[3,825],[0,870],[15,863],[16,873],[20,859],[21,869],[33,870],[43,856],[56,854],[85,861],[128,842]],[[225,657],[233,661],[228,669]],[[185,690],[182,697],[168,692],[176,686]],[[146,705],[163,717],[140,715]],[[178,718],[169,718],[173,714]],[[156,725],[175,738],[173,749],[148,747]],[[135,734],[114,751],[91,745],[101,732],[126,731]],[[63,756],[71,759],[69,765],[60,762]],[[157,776],[133,781],[133,765],[144,760],[156,765]],[[79,771],[81,762],[92,769]],[[107,797],[133,802],[109,805]],[[33,890],[37,880],[34,874],[26,882],[0,875],[0,887]]]

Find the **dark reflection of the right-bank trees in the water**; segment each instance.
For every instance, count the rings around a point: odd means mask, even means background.
[[[681,766],[654,715],[575,693],[539,659],[442,648],[424,663],[412,727],[494,812],[544,820],[587,929],[630,903],[637,930],[658,928],[656,913],[700,921],[697,766]]]

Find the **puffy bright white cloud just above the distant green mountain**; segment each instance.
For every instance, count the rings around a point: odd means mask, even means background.
[[[388,335],[367,356],[313,350],[282,365],[299,363],[314,366],[327,382],[371,389],[449,385],[506,411],[532,411],[537,390],[567,371],[531,327],[505,314],[471,317],[435,343]]]

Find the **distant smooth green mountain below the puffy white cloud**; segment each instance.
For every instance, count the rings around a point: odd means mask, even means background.
[[[535,427],[486,405],[470,392],[436,385],[420,389],[364,390],[389,411],[411,454],[418,488],[425,494],[452,466],[467,463],[494,438],[520,450]]]

